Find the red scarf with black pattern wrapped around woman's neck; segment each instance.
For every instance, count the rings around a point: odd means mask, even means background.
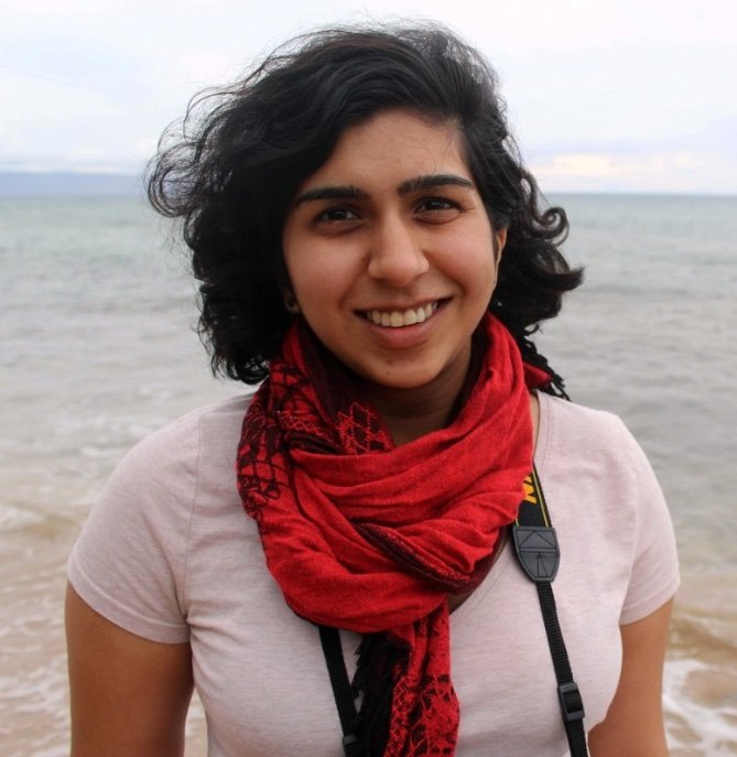
[[[491,315],[483,328],[455,420],[400,447],[296,324],[243,421],[238,487],[290,607],[403,650],[386,757],[454,754],[446,595],[483,581],[532,468],[528,386],[548,377]]]

